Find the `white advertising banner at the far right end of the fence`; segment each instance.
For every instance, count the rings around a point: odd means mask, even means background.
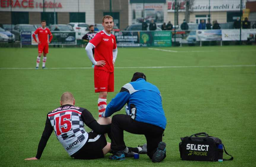
[[[255,37],[256,29],[242,29],[241,40],[246,41],[249,38]],[[223,41],[238,41],[240,40],[240,29],[222,30]]]

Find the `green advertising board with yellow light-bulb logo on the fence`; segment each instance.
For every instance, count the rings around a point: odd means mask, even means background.
[[[170,31],[140,31],[141,46],[171,46]]]

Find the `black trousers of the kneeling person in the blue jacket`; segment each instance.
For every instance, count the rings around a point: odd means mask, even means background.
[[[111,124],[111,149],[113,152],[124,150],[126,148],[123,131],[145,135],[147,140],[147,155],[152,159],[157,150],[158,143],[162,141],[164,129],[156,125],[139,122],[129,115],[116,114],[112,117]]]

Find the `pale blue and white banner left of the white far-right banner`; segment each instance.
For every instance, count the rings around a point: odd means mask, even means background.
[[[221,30],[196,30],[197,41],[220,41]]]

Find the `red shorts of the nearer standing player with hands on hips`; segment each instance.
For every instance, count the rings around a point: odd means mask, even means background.
[[[94,89],[96,92],[114,91],[114,73],[94,69]]]

